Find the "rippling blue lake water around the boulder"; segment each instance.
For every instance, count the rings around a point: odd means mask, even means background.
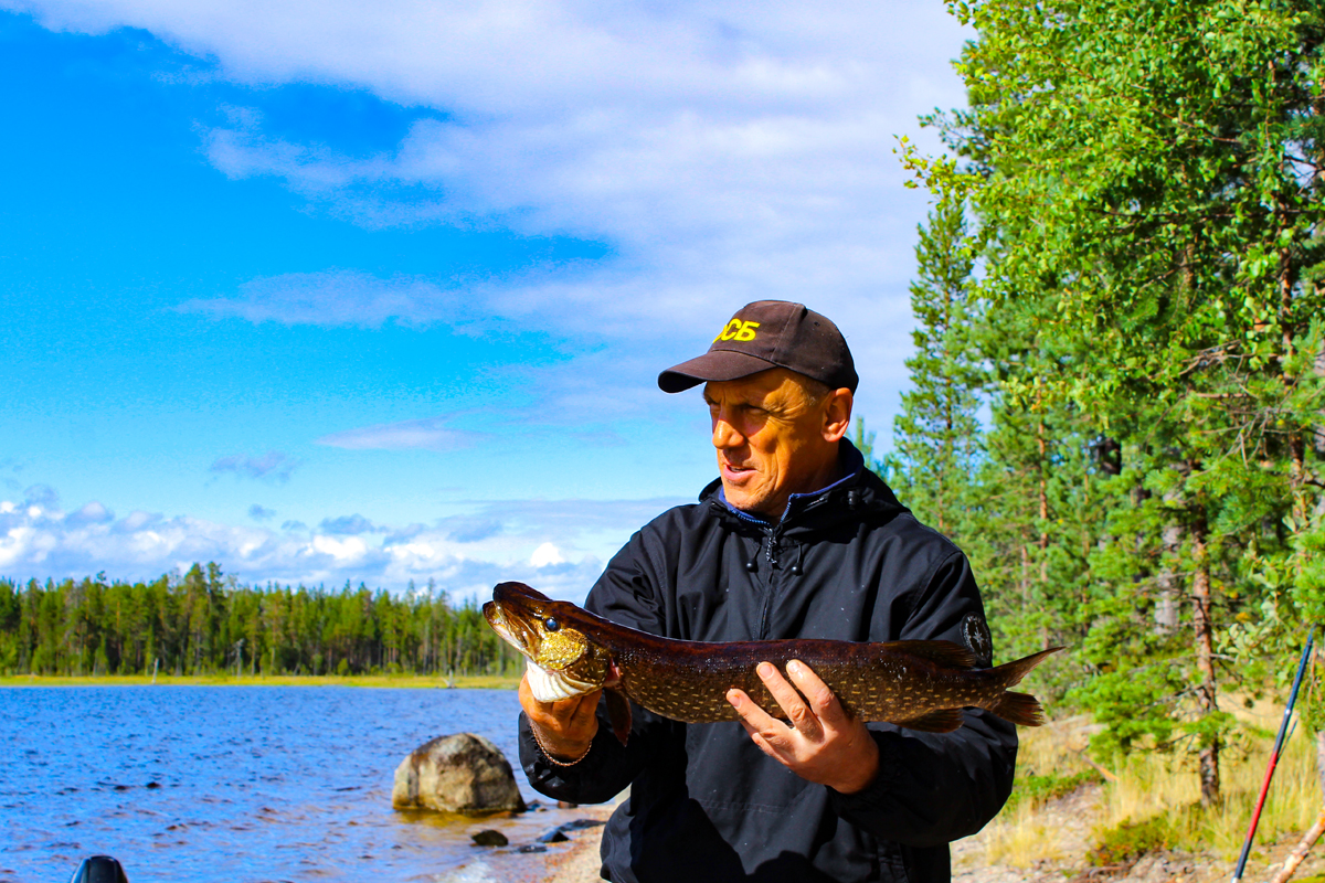
[[[493,740],[547,804],[518,767],[518,710],[514,690],[0,690],[0,883],[64,883],[97,853],[130,883],[525,876],[514,847],[578,813],[391,809],[396,765],[453,732]],[[484,827],[513,849],[472,846]]]

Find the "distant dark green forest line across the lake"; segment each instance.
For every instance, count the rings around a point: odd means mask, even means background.
[[[432,580],[404,593],[363,584],[240,585],[216,564],[150,582],[0,580],[0,673],[423,674],[521,671],[472,601]]]

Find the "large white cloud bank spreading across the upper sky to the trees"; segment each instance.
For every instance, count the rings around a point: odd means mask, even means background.
[[[670,352],[684,339],[692,355],[737,306],[786,298],[848,328],[867,389],[905,376],[906,281],[925,207],[904,189],[892,147],[916,134],[917,114],[963,102],[949,60],[965,34],[942,4],[0,7],[52,28],[143,28],[241,83],[323,83],[419,109],[395,148],[359,155],[272,134],[254,91],[257,107],[233,109],[205,135],[227,175],[282,179],[368,226],[502,225],[611,248],[600,261],[462,286],[281,275],[188,308],[378,327],[464,323],[448,304],[481,304],[485,316],[598,335],[616,352]]]

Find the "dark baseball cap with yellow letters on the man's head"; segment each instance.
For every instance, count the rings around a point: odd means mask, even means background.
[[[709,380],[739,380],[787,368],[832,389],[856,392],[856,363],[828,316],[790,301],[755,301],[722,326],[709,351],[659,375],[662,392],[682,392]]]

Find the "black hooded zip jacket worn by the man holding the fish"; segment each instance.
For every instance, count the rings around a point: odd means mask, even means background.
[[[778,524],[730,508],[718,482],[698,504],[664,512],[612,559],[586,608],[690,641],[987,635],[966,556],[843,445],[849,477],[792,498]],[[983,711],[946,735],[869,724],[880,772],[851,796],[795,776],[738,723],[632,711],[623,748],[600,707],[588,755],[567,768],[549,764],[519,720],[521,761],[539,792],[596,804],[631,785],[603,835],[610,880],[947,880],[949,841],[983,827],[1012,786],[1016,729]]]

